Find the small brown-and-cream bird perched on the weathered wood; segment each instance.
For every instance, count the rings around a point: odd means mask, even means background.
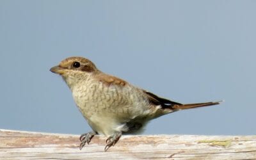
[[[104,148],[107,151],[122,134],[140,133],[154,118],[183,109],[220,104],[220,101],[181,104],[164,99],[100,71],[92,61],[79,56],[62,60],[50,71],[67,83],[77,108],[92,128],[81,134],[80,150],[86,143],[89,145],[96,134],[107,137]]]

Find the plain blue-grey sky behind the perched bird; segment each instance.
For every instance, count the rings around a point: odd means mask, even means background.
[[[177,102],[144,134],[255,134],[256,1],[0,1],[0,129],[90,131],[49,69],[84,56]]]

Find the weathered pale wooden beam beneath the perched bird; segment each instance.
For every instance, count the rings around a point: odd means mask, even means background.
[[[0,129],[0,159],[256,159],[256,136],[122,136],[108,152],[105,140],[79,150],[79,135]]]

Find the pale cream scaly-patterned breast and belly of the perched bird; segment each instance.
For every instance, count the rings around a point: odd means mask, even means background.
[[[76,89],[72,92],[73,97],[84,118],[93,131],[106,136],[115,132],[137,131],[154,118],[152,113],[157,111],[133,86],[106,89],[100,84]]]

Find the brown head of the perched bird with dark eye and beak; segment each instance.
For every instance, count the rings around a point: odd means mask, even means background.
[[[82,57],[66,58],[50,70],[55,74],[60,74],[70,87],[99,72],[92,61]]]

